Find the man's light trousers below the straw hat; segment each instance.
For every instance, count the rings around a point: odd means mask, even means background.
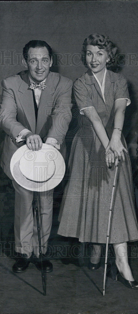
[[[14,236],[15,251],[21,254],[39,256],[36,214],[32,208],[34,192],[24,189],[16,181],[12,181],[15,189]],[[38,212],[42,253],[47,250],[48,238],[52,225],[53,189],[37,192]]]

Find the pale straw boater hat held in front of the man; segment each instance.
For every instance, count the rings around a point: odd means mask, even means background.
[[[14,180],[30,191],[48,191],[63,179],[65,162],[60,152],[51,145],[43,144],[38,151],[21,146],[13,154],[10,170]]]

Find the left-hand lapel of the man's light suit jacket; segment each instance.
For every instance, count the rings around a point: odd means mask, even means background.
[[[29,122],[31,131],[35,133],[35,112],[32,90],[29,88],[28,72],[22,75],[22,83],[19,87],[19,101]]]

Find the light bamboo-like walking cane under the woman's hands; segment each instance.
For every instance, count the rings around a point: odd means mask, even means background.
[[[106,240],[106,253],[105,253],[105,267],[104,267],[103,295],[105,295],[105,279],[106,279],[106,269],[107,269],[107,253],[108,253],[108,242],[109,242],[109,230],[110,230],[112,203],[113,203],[113,198],[114,198],[114,188],[115,188],[115,181],[116,181],[116,176],[117,176],[117,170],[118,170],[118,165],[117,165],[117,167],[115,169],[114,183],[113,183],[112,196],[111,196],[111,204],[110,204],[110,210],[109,210],[108,231],[107,231],[107,240]]]

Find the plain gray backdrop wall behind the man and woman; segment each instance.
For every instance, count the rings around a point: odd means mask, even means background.
[[[131,97],[125,135],[133,139],[138,130],[137,20],[137,1],[1,2],[0,81],[24,69],[22,49],[32,39],[47,41],[54,52],[52,71],[74,81],[86,71],[79,59],[83,40],[91,33],[109,35],[125,54],[122,73],[128,80]]]

